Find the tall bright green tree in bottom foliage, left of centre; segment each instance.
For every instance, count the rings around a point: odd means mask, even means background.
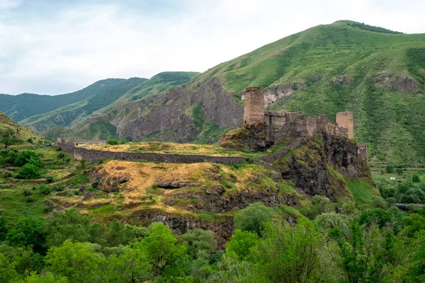
[[[149,236],[135,243],[134,248],[145,250],[154,275],[179,277],[185,274],[188,258],[187,245],[179,244],[168,226],[153,223]]]

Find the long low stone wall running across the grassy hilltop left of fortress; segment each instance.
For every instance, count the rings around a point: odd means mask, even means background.
[[[85,149],[84,147],[68,146],[68,144],[58,144],[60,148],[74,156],[76,160],[85,159],[86,161],[99,160],[126,160],[126,161],[149,161],[164,163],[220,163],[231,165],[242,163],[247,160],[243,156],[204,156],[204,155],[183,155],[183,154],[156,154],[152,152],[137,153],[125,151],[98,151],[95,149]],[[62,147],[63,146],[63,147]]]

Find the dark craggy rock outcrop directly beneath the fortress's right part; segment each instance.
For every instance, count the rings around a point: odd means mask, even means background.
[[[289,151],[273,167],[284,179],[295,180],[295,187],[305,194],[325,195],[333,201],[352,197],[343,176],[370,178],[367,161],[358,155],[358,144],[326,133],[305,138],[300,147]]]

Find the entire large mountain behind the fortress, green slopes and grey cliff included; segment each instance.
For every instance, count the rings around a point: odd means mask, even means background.
[[[354,114],[372,159],[425,157],[425,34],[351,21],[318,25],[209,69],[186,86],[122,103],[106,116],[120,137],[217,141],[242,123],[241,93],[261,86],[271,110],[334,120]],[[93,120],[104,121],[105,117]]]

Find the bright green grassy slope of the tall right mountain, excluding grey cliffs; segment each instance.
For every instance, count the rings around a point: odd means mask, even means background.
[[[278,100],[271,110],[327,115],[351,111],[356,139],[368,143],[372,159],[425,159],[425,34],[375,33],[339,21],[290,35],[209,69],[190,88],[217,76],[232,93],[247,86],[305,83],[307,88]],[[385,32],[385,30],[383,30]],[[374,79],[412,76],[421,93],[401,93]],[[340,86],[332,79],[346,76]]]

